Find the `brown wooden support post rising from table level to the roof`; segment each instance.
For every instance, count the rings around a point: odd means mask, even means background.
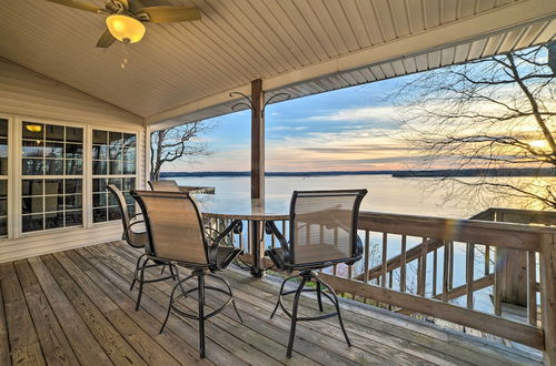
[[[265,92],[262,80],[251,81],[251,199],[265,200]]]

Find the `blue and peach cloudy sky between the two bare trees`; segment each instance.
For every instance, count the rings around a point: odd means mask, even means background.
[[[266,111],[267,171],[407,169],[414,159],[396,139],[398,111],[386,98],[403,79],[380,81],[272,104]],[[210,156],[165,171],[248,171],[250,113],[208,120]]]

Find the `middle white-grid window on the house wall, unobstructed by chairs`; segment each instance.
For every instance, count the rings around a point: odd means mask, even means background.
[[[82,225],[83,129],[23,122],[22,232]]]

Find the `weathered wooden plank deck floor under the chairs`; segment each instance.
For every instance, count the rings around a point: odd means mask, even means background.
[[[207,358],[198,358],[195,322],[171,317],[158,334],[171,283],[146,285],[142,308],[129,281],[139,252],[122,243],[0,264],[0,365],[278,365],[292,364],[536,364],[538,355],[366,305],[342,302],[347,347],[336,318],[301,323],[291,359],[285,357],[289,319],[269,319],[276,279],[252,279],[239,271],[226,277],[244,324],[232,309],[207,325]],[[220,298],[209,296],[208,302]],[[316,303],[304,298],[304,313]],[[196,308],[196,303],[187,303]]]

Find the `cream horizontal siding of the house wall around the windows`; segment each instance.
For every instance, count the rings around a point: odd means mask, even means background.
[[[62,122],[69,124],[81,124],[83,129],[117,129],[122,132],[137,133],[137,186],[145,189],[146,136],[142,119],[128,113],[119,108],[99,101],[79,91],[75,91],[49,79],[42,78],[29,70],[9,62],[0,61],[0,115],[8,116],[10,123],[17,124],[22,118],[32,118],[38,121]],[[16,128],[11,128],[11,133]],[[10,165],[20,164],[14,162],[19,143],[14,139],[10,142]],[[90,164],[86,149],[86,166]],[[12,171],[13,173],[13,171]],[[90,175],[89,175],[90,176]],[[19,185],[20,181],[10,176],[10,185]],[[86,177],[87,179],[87,177]],[[90,184],[83,186],[83,225],[87,226],[87,214],[90,207]],[[19,197],[13,193],[18,190],[10,189],[10,206],[20,205]],[[19,222],[20,217],[10,210],[9,223]],[[9,224],[12,225],[12,224]],[[44,232],[19,234],[12,230],[11,238],[0,240],[0,263],[33,255],[63,251],[68,248],[105,243],[121,238],[121,222],[92,224],[90,227],[68,227]]]

